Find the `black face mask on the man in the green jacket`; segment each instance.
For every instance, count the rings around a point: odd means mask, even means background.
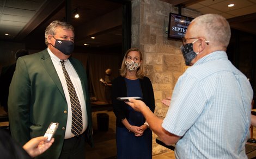
[[[54,39],[55,37],[52,36]],[[69,40],[59,40],[59,39],[55,39],[55,44],[54,44],[54,48],[57,48],[58,50],[60,50],[60,52],[62,52],[65,55],[71,55],[71,53],[74,50],[74,42],[69,41]]]

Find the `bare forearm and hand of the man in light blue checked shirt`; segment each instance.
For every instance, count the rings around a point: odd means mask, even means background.
[[[143,116],[149,123],[150,129],[154,131],[157,136],[160,137],[162,142],[167,145],[178,142],[180,137],[164,130],[162,128],[163,119],[155,116],[154,113],[150,111],[149,107],[145,105],[143,101],[130,98],[129,101],[126,102],[126,104],[130,105],[135,111],[141,112],[143,114]]]

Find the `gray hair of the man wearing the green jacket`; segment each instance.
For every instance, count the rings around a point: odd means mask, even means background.
[[[62,22],[62,21],[53,21],[49,26],[45,29],[45,44],[48,46],[47,36],[48,35],[55,35],[55,31],[57,27],[62,27],[64,30],[72,30],[75,34],[74,27],[71,24]]]

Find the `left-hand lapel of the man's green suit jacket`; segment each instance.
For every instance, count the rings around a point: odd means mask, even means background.
[[[45,67],[47,73],[50,75],[53,82],[58,87],[63,98],[66,99],[63,88],[62,88],[62,82],[60,82],[60,80],[59,80],[58,73],[56,72],[56,69],[52,63],[51,57],[50,57],[47,49],[42,51],[41,59],[42,59],[42,65]]]

